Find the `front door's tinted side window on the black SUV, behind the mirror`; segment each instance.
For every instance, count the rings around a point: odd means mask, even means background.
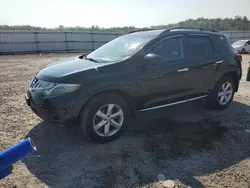
[[[151,53],[161,56],[164,60],[180,60],[184,58],[183,38],[165,39],[156,44]]]

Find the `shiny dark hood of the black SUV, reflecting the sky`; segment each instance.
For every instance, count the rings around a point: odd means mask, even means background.
[[[50,64],[40,70],[36,77],[44,81],[60,82],[65,77],[72,77],[83,71],[96,72],[99,67],[106,66],[107,63],[95,63],[89,60],[81,59],[79,56],[71,57]]]

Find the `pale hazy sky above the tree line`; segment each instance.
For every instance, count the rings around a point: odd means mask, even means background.
[[[250,19],[250,0],[0,0],[0,25],[148,27],[236,15]]]

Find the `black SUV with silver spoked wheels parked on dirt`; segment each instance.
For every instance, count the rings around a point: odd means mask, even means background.
[[[40,70],[25,98],[42,119],[79,120],[89,139],[105,142],[137,112],[205,97],[213,108],[227,107],[239,87],[241,61],[215,30],[137,30]]]

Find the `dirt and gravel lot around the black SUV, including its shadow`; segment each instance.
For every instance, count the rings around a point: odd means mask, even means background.
[[[175,187],[250,187],[250,55],[243,56],[240,89],[226,110],[199,101],[144,113],[107,144],[87,141],[78,126],[46,124],[25,104],[34,74],[72,55],[0,56],[0,151],[27,136],[38,148],[0,187],[162,188],[159,174]]]

